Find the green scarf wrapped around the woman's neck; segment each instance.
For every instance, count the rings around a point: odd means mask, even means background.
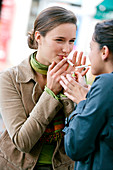
[[[49,66],[41,64],[36,60],[36,52],[31,55],[30,64],[36,72],[47,75]]]

